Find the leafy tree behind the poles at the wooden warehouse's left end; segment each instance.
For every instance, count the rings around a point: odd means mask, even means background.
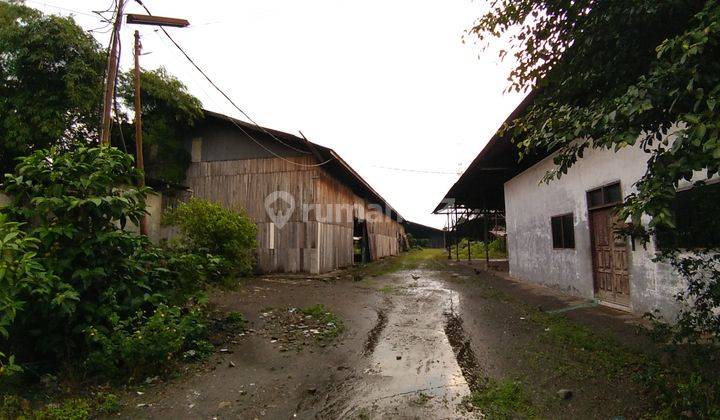
[[[120,78],[119,94],[125,105],[135,110],[134,73]],[[164,68],[140,73],[142,83],[143,157],[148,176],[182,183],[190,164],[184,139],[202,117],[202,104],[187,87]],[[135,131],[128,130],[132,144]],[[135,150],[134,146],[132,150]]]

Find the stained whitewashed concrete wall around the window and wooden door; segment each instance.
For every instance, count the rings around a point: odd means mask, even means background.
[[[623,195],[629,194],[645,173],[648,156],[639,148],[617,153],[587,150],[560,180],[539,184],[554,167],[549,157],[505,183],[510,274],[594,298],[586,192],[619,181]],[[550,218],[570,212],[575,249],[553,249]],[[630,309],[636,313],[659,309],[672,316],[677,310],[674,296],[682,285],[667,265],[652,261],[653,246],[650,243],[644,249],[638,242],[635,251],[628,251]]]

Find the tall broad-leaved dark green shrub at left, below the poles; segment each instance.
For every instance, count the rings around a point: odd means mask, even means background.
[[[63,357],[82,347],[84,328],[152,299],[159,256],[145,237],[119,228],[145,213],[149,190],[131,187],[138,176],[131,156],[84,146],[35,151],[5,175],[2,192],[13,201],[3,212],[24,224],[54,278],[14,297],[28,302],[8,328],[16,354]]]

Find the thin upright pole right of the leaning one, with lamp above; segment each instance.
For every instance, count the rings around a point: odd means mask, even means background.
[[[128,24],[137,25],[153,25],[153,26],[173,26],[176,28],[184,28],[190,23],[185,19],[167,18],[161,16],[150,15],[127,15]],[[143,157],[142,146],[142,101],[141,101],[141,83],[140,83],[140,51],[142,44],[140,43],[140,32],[135,31],[135,167],[143,171],[138,185],[145,186],[145,159]],[[147,235],[147,217],[140,219],[140,234]]]

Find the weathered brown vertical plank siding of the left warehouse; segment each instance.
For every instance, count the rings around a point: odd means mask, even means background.
[[[311,157],[289,157],[312,164]],[[368,210],[363,199],[318,167],[278,158],[193,162],[187,172],[193,196],[244,209],[258,225],[258,268],[263,272],[322,273],[353,264],[353,216],[368,217],[371,258],[400,252],[402,226]],[[265,208],[276,191],[294,198],[281,227]],[[309,206],[309,207],[308,207]]]

